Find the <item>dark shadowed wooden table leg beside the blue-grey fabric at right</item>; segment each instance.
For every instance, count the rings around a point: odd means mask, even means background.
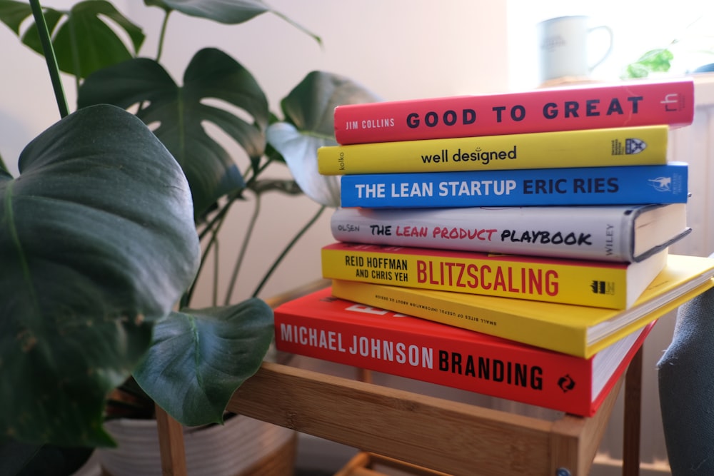
[[[640,474],[640,417],[642,410],[642,348],[637,351],[625,376],[623,429],[623,476]]]

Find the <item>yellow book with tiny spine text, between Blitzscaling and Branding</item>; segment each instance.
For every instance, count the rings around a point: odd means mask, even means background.
[[[628,310],[333,280],[337,298],[590,358],[714,287],[714,259],[668,255]]]

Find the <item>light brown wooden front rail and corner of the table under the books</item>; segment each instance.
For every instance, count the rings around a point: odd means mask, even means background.
[[[622,380],[595,417],[549,422],[264,363],[228,410],[455,476],[585,476]]]

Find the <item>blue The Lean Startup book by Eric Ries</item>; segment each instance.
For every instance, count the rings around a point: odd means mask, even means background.
[[[686,203],[688,166],[368,173],[341,177],[341,205],[363,208]]]

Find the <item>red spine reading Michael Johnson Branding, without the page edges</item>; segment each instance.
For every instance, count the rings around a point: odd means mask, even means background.
[[[356,305],[358,307],[358,305]],[[364,306],[362,306],[364,307]],[[370,310],[371,313],[376,312]],[[590,360],[277,312],[276,348],[357,368],[590,414]],[[558,381],[575,382],[564,392]]]

